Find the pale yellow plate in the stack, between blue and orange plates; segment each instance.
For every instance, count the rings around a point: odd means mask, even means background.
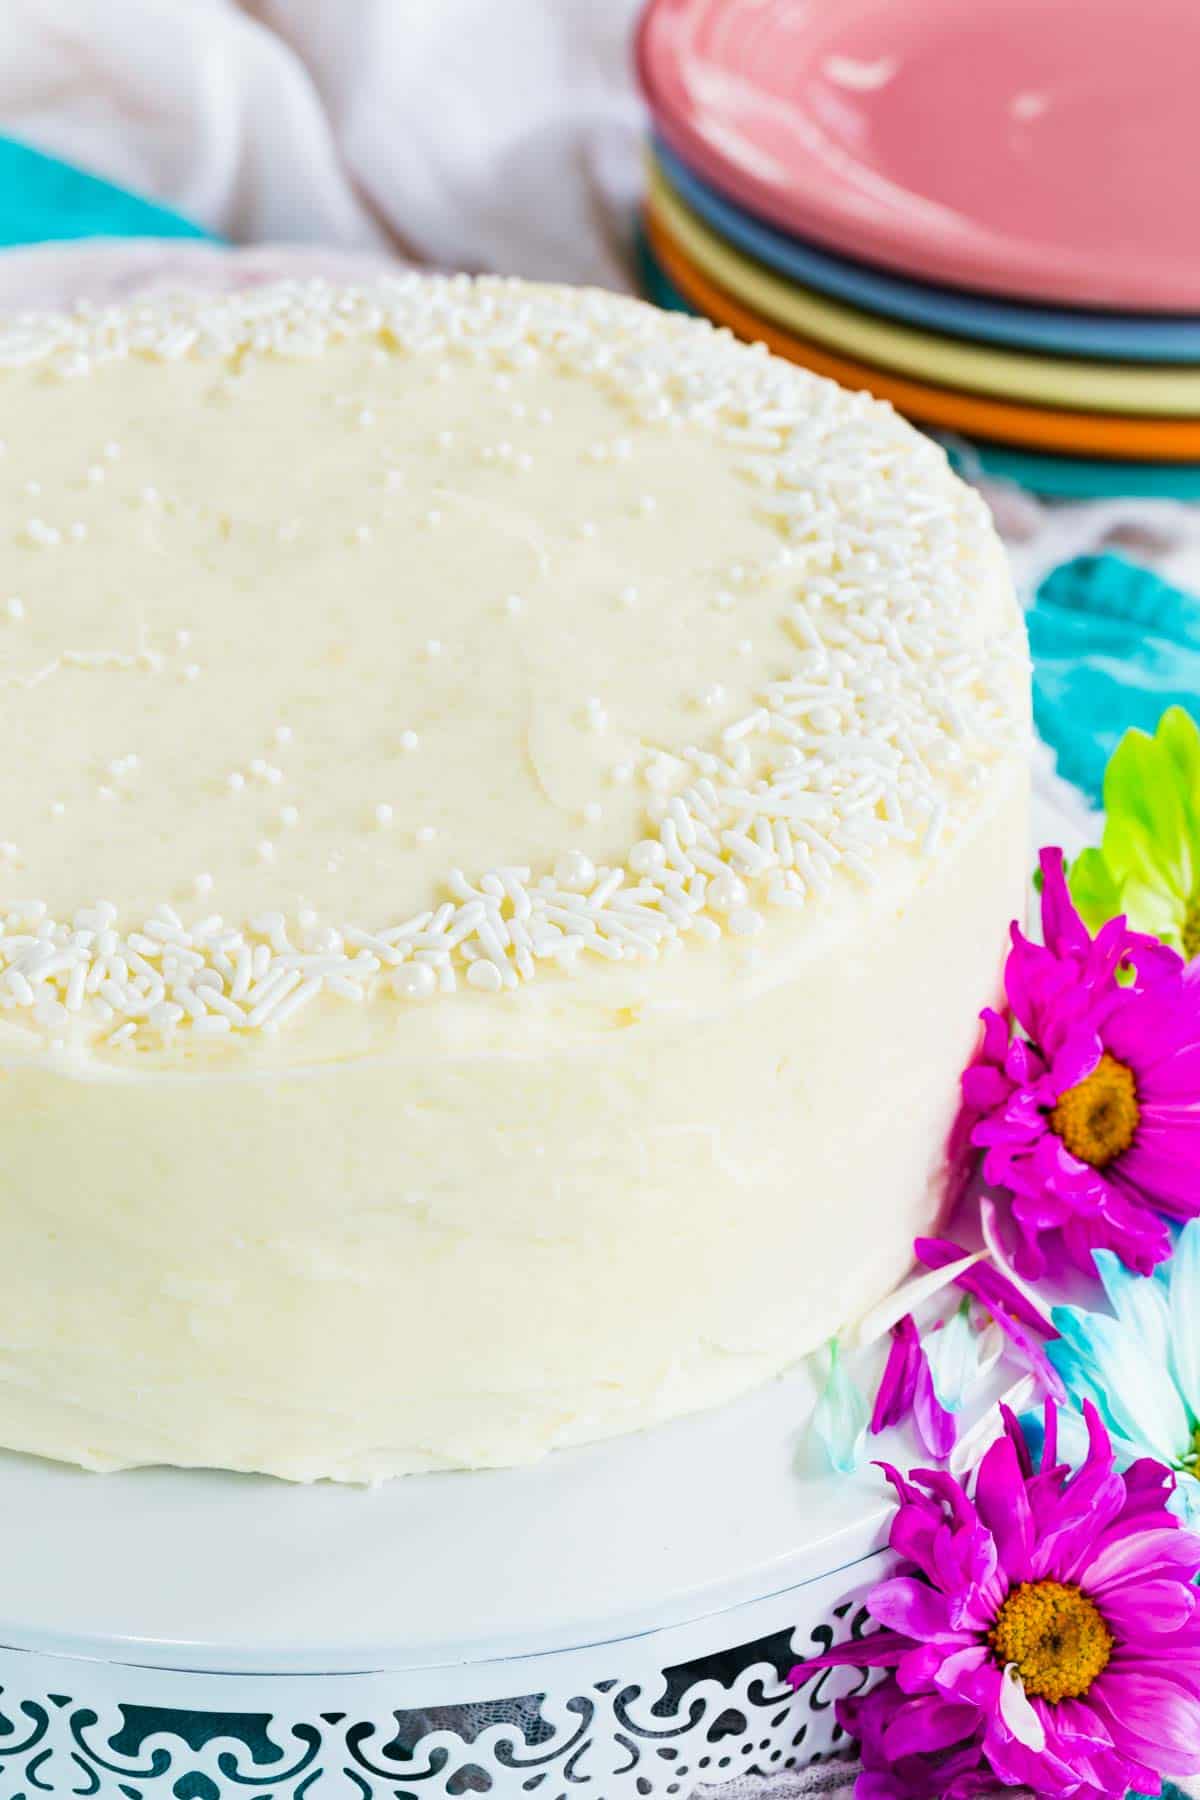
[[[939,387],[1027,400],[1043,407],[1130,412],[1142,418],[1200,418],[1200,369],[1144,369],[986,349],[936,331],[898,326],[801,288],[718,238],[680,200],[653,158],[649,205],[687,259],[725,293],[786,329],[847,356],[936,382]]]

